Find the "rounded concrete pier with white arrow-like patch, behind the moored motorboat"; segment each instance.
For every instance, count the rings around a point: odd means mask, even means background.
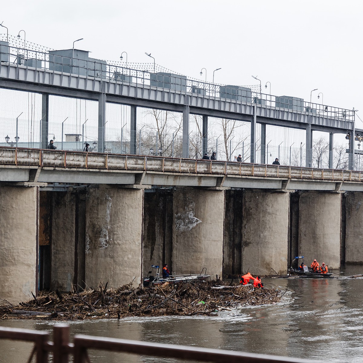
[[[212,212],[213,211],[213,212]],[[224,191],[177,189],[173,196],[172,266],[176,274],[222,275]]]

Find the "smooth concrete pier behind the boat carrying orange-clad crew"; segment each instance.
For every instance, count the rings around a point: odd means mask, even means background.
[[[302,192],[299,198],[299,256],[307,265],[340,266],[340,193]]]

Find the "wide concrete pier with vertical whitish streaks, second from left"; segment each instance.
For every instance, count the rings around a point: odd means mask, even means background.
[[[142,278],[143,189],[90,188],[86,197],[87,286]]]

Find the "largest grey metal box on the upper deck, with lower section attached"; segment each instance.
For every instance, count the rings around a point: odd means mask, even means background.
[[[79,76],[106,78],[106,62],[79,49],[49,50],[49,69]]]

